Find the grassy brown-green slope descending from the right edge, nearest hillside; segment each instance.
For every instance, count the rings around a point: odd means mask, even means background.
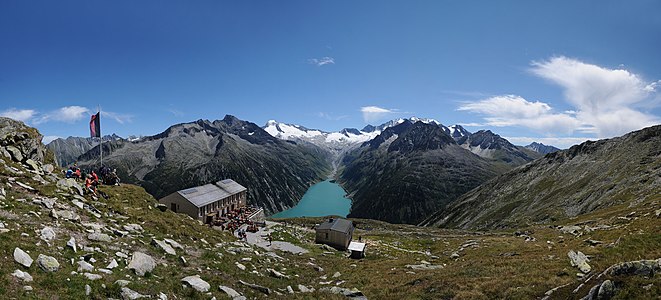
[[[422,224],[516,227],[661,195],[661,126],[547,154],[467,193]]]

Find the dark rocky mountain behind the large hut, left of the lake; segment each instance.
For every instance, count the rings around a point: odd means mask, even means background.
[[[97,146],[79,164],[98,167],[98,153]],[[254,123],[226,116],[174,125],[136,142],[106,142],[103,159],[123,180],[156,198],[231,178],[248,188],[249,203],[277,212],[295,205],[328,174],[328,157],[314,145],[283,141]]]

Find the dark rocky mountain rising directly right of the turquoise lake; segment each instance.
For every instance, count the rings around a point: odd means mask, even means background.
[[[348,153],[340,181],[349,217],[417,223],[498,174],[439,125],[405,121]]]

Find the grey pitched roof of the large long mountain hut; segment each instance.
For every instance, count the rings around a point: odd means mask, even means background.
[[[222,184],[218,184],[222,183]],[[190,203],[197,207],[205,206],[209,203],[225,199],[234,194],[245,191],[246,188],[236,183],[232,179],[225,179],[218,181],[216,184],[205,184],[185,190],[177,191],[179,195],[184,197]]]

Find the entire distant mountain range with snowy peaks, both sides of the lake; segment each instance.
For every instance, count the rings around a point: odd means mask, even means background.
[[[222,178],[248,187],[268,213],[292,207],[313,183],[333,177],[350,194],[350,216],[416,224],[486,180],[541,154],[491,131],[470,133],[433,119],[396,119],[326,132],[226,116],[103,144],[104,164],[155,197]],[[61,165],[98,166],[89,138],[48,145]],[[167,184],[166,184],[167,183]]]

